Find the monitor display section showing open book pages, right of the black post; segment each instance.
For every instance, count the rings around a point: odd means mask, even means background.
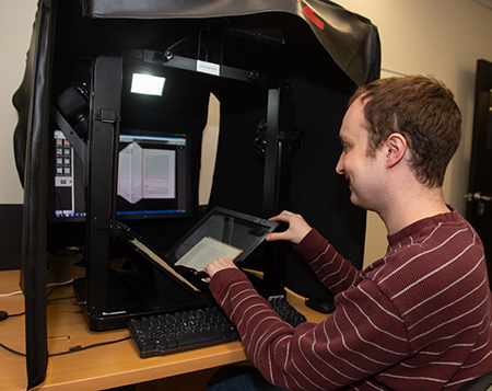
[[[189,216],[189,150],[186,135],[121,130],[118,219]]]

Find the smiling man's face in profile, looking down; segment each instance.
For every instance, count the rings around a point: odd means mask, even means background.
[[[353,205],[377,211],[384,197],[380,153],[368,154],[368,133],[362,110],[363,104],[358,100],[345,113],[339,136],[343,151],[336,171],[349,181]]]

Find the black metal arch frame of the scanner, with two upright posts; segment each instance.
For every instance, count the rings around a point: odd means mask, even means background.
[[[118,235],[115,220],[115,183],[118,151],[121,76],[125,61],[161,65],[197,72],[197,60],[174,56],[169,50],[157,53],[141,49],[112,48],[94,62],[92,74],[90,141],[85,164],[87,172],[86,257],[84,287],[79,296],[85,301],[84,314],[93,331],[124,327],[133,314],[109,308],[108,258],[112,235]],[[218,77],[203,74],[203,77]],[[274,216],[288,206],[290,161],[293,135],[293,96],[290,87],[254,71],[221,66],[222,79],[266,85],[267,147],[265,154],[263,214]],[[72,135],[73,136],[73,135]],[[108,185],[112,184],[112,185]],[[283,292],[282,250],[269,243],[269,262],[265,269],[265,289]],[[83,291],[81,291],[83,290]],[[113,292],[114,294],[114,292]],[[124,312],[124,311],[121,311]]]

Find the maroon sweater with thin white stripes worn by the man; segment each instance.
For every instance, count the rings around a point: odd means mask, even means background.
[[[295,248],[335,294],[335,312],[283,323],[243,272],[210,289],[265,378],[289,390],[458,390],[492,370],[492,297],[482,243],[456,210],[388,237],[360,272],[316,230]]]

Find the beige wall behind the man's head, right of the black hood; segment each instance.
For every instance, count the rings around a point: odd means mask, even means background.
[[[456,95],[462,111],[461,145],[448,168],[444,196],[466,212],[471,153],[477,60],[492,61],[492,11],[472,0],[338,0],[340,5],[368,18],[379,31],[382,68],[434,76]],[[370,214],[365,264],[384,255],[386,230]]]

